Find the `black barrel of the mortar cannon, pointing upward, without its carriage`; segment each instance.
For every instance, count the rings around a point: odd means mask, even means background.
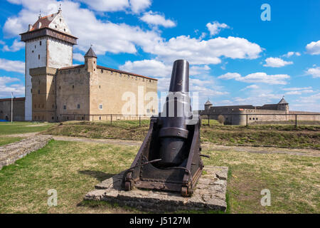
[[[186,119],[191,118],[189,92],[189,63],[177,60],[171,74],[169,94],[161,113],[159,131],[160,167],[180,165],[188,157]]]

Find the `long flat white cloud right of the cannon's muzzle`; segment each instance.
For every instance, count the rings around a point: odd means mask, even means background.
[[[242,81],[244,83],[267,83],[271,85],[286,85],[286,79],[289,79],[290,76],[287,74],[276,74],[276,75],[267,75],[267,73],[257,72],[250,73],[247,76],[240,76],[239,73],[225,73],[222,76],[219,76],[220,79],[235,79],[235,81]]]

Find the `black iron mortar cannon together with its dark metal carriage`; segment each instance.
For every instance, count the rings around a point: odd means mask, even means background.
[[[169,94],[158,117],[151,117],[149,131],[131,167],[124,172],[124,190],[139,187],[181,192],[190,196],[201,176],[200,126],[191,111],[189,63],[177,60]]]

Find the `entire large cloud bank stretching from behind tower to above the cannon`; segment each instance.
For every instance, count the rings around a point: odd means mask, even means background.
[[[54,0],[10,0],[23,5],[17,16],[6,20],[4,32],[6,36],[18,36],[26,31],[28,24],[38,18],[38,9],[43,14],[51,14],[58,10],[58,2]],[[191,38],[177,36],[166,41],[160,31],[144,30],[139,26],[114,24],[111,21],[101,21],[90,9],[82,9],[78,2],[63,1],[63,16],[71,32],[79,38],[78,48],[87,51],[90,43],[95,45],[97,54],[137,53],[137,47],[145,53],[151,53],[159,61],[172,63],[178,58],[188,59],[194,64],[218,64],[220,57],[226,58],[258,58],[262,48],[245,38],[229,36],[228,38]]]

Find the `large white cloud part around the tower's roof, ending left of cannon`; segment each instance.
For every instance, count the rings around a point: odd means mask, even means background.
[[[23,5],[23,9],[18,16],[11,16],[6,20],[6,36],[18,36],[18,33],[26,31],[28,24],[34,23],[38,18],[38,9],[41,9],[43,14],[58,11],[58,1],[20,0],[18,3]],[[63,1],[63,16],[73,35],[79,38],[75,48],[81,51],[87,51],[90,43],[93,43],[97,54],[107,51],[137,53],[136,46],[145,48],[162,39],[156,31],[144,31],[139,26],[101,21],[94,12],[80,8],[80,4],[73,1]]]

